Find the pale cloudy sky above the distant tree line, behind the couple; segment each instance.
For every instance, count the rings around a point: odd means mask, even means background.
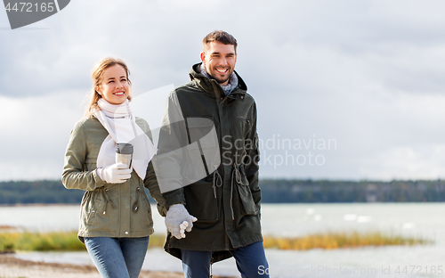
[[[157,127],[150,115],[190,80],[215,29],[239,43],[260,178],[444,178],[444,9],[440,0],[76,0],[13,30],[0,9],[0,181],[61,178],[102,58],[127,63],[134,104]]]

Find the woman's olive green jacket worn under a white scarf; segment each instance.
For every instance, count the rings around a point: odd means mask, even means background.
[[[143,119],[136,124],[149,135],[150,127]],[[62,184],[68,189],[85,190],[80,208],[78,237],[145,237],[154,232],[150,202],[143,186],[158,202],[158,211],[166,215],[165,199],[150,161],[145,179],[135,171],[122,184],[107,184],[96,173],[101,144],[109,135],[93,116],[77,122],[71,131],[65,154]]]

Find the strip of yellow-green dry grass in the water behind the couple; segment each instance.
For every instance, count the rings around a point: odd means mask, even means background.
[[[165,235],[150,235],[149,248],[162,248]],[[373,233],[317,233],[298,238],[280,238],[264,236],[264,247],[271,249],[342,249],[365,246],[417,245],[431,244],[421,238],[402,237],[380,232]],[[23,251],[77,251],[84,250],[85,245],[77,239],[77,232],[53,233],[0,233],[0,253]]]

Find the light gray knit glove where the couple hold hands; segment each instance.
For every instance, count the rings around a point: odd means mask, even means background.
[[[193,222],[197,220],[197,217],[190,216],[182,204],[171,205],[166,213],[166,227],[178,240],[185,238],[184,231],[191,232]]]

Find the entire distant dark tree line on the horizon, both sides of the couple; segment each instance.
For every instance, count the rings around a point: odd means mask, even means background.
[[[263,203],[444,201],[445,181],[328,181],[263,179]],[[0,182],[0,204],[75,204],[84,191],[60,180]],[[150,195],[149,195],[150,197]],[[150,201],[153,201],[150,198]]]

